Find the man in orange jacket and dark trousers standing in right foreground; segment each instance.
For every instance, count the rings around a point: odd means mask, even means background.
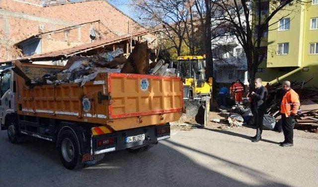
[[[298,114],[300,101],[298,94],[290,88],[290,81],[284,81],[282,88],[286,92],[280,105],[280,113],[282,115],[282,128],[285,140],[283,142],[280,142],[280,146],[291,147],[294,146],[293,128],[295,124],[293,123],[293,119]]]

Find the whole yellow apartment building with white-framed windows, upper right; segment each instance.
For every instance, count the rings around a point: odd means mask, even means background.
[[[318,87],[318,0],[288,5],[269,25],[267,59],[256,76],[272,83],[312,79],[305,86]]]

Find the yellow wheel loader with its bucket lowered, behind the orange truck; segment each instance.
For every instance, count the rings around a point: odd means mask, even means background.
[[[183,99],[186,118],[205,126],[210,111],[212,94],[212,77],[205,76],[206,62],[202,56],[178,57],[176,64],[177,76],[183,80]]]

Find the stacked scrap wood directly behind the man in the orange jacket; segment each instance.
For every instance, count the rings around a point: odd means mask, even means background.
[[[312,79],[310,79],[312,80]],[[301,115],[296,116],[295,125],[306,128],[318,128],[318,88],[304,88],[303,86],[309,82],[291,82],[291,87],[294,89],[300,98]],[[274,84],[267,87],[267,113],[275,117],[280,124],[280,102],[284,96],[284,91],[281,84]]]

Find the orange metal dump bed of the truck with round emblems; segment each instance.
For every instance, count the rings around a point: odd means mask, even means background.
[[[21,84],[19,84],[21,85]],[[113,130],[177,121],[179,77],[99,73],[94,81],[18,87],[18,114],[101,124]]]

